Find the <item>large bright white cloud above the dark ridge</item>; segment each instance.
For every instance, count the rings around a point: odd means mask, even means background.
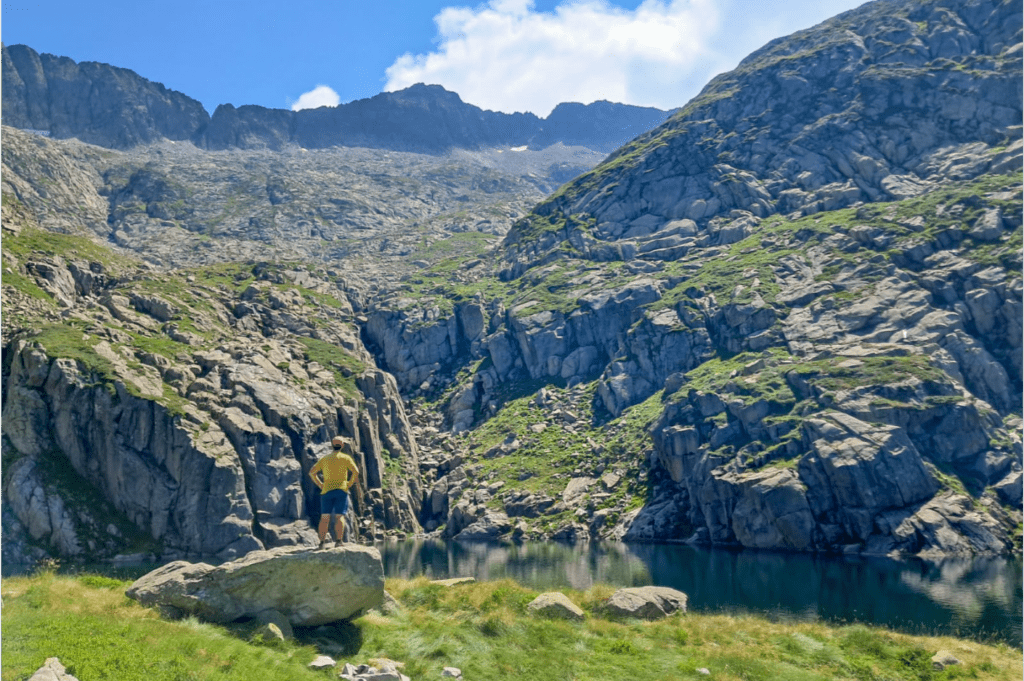
[[[446,7],[434,17],[437,49],[403,54],[385,90],[442,85],[483,109],[547,116],[561,101],[608,99],[660,109],[685,103],[720,68],[708,40],[715,0],[645,0],[625,10],[605,0],[532,0]]]

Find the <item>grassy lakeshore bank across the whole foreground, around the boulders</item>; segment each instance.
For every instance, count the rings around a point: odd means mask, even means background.
[[[3,581],[3,681],[27,679],[58,656],[81,681],[326,679],[306,665],[323,652],[354,664],[388,657],[418,679],[459,667],[483,679],[1020,679],[1021,651],[948,637],[863,626],[781,624],[755,616],[681,614],[612,622],[599,614],[609,587],[565,590],[587,611],[574,624],[532,616],[538,592],[510,581],[441,587],[389,580],[399,612],[298,630],[267,644],[253,624],[171,622],[124,596],[130,584],[42,572]],[[932,671],[939,649],[962,665]],[[710,676],[697,669],[706,668]]]

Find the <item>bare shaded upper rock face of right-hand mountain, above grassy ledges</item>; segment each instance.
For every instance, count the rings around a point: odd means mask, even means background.
[[[740,217],[901,199],[1019,167],[1018,9],[876,2],[775,40],[539,206],[510,235],[510,260],[538,262],[527,236],[550,217],[590,221],[575,233],[618,252],[635,248],[637,228],[680,218],[722,245],[743,233]]]

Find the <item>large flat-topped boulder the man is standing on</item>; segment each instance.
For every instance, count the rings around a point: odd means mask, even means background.
[[[314,627],[381,607],[384,565],[372,547],[282,547],[218,566],[168,563],[125,593],[143,605],[169,606],[210,622],[255,618],[272,609],[293,626]]]

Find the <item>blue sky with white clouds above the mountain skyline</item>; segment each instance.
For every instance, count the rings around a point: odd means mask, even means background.
[[[769,40],[861,0],[0,0],[6,45],[217,104],[331,105],[437,83],[495,111],[679,107]]]

